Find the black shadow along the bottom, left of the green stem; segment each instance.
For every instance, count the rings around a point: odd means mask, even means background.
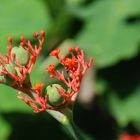
[[[12,126],[9,140],[71,140],[61,131],[59,123],[44,113],[10,113],[4,117]]]

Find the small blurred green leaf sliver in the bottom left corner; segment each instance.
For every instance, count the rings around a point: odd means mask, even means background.
[[[10,126],[0,115],[0,139],[7,140],[9,134],[10,134]]]

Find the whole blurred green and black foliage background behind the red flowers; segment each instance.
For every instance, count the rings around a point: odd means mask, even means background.
[[[44,69],[48,53],[80,46],[94,59],[83,80],[74,119],[85,140],[117,140],[140,134],[140,0],[0,0],[0,52],[7,37],[45,30],[43,52],[32,83],[52,83]],[[46,76],[45,76],[46,75]],[[0,85],[0,140],[70,140],[46,113],[34,114],[17,91]]]

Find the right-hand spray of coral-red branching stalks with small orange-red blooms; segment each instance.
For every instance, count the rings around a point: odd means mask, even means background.
[[[58,59],[59,63],[64,67],[65,71],[67,72],[67,76],[64,75],[65,73],[64,70],[55,71],[53,69],[53,72],[48,71],[51,74],[50,75],[51,78],[55,78],[63,82],[67,87],[67,90],[63,90],[63,88],[58,88],[61,96],[65,98],[65,101],[62,103],[64,106],[73,105],[79,93],[82,78],[87,72],[87,70],[89,69],[89,67],[92,65],[92,59],[89,60],[89,63],[86,62],[84,57],[84,52],[79,47],[75,48],[75,51],[77,53],[76,55],[74,55],[73,51],[74,50],[72,48],[69,48],[71,57],[64,57],[64,56],[56,57],[55,55],[53,55]],[[53,52],[57,52],[57,50],[54,50]],[[52,52],[50,53],[50,55],[52,55]],[[51,66],[49,66],[49,68],[47,69],[50,68]]]

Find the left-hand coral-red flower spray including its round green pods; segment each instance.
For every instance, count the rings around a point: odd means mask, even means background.
[[[29,40],[26,41],[23,36],[21,36],[20,46],[12,47],[12,38],[8,38],[10,43],[8,53],[6,57],[0,54],[0,76],[5,76],[6,80],[10,78],[18,83],[24,82],[26,76],[31,73],[36,59],[42,50],[45,33],[42,31],[40,35],[42,37],[41,39],[38,38],[38,33],[34,34],[34,37],[39,40],[38,47],[36,45],[33,46]],[[7,69],[6,66],[8,66],[9,69]],[[14,70],[14,72],[11,72],[11,69]]]

